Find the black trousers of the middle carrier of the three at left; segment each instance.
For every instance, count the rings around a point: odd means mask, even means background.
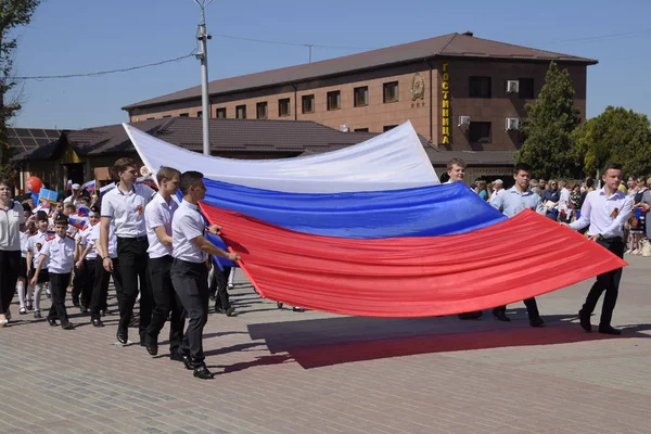
[[[186,321],[183,307],[174,291],[169,275],[173,260],[173,257],[169,255],[159,258],[150,258],[149,260],[152,293],[154,296],[154,311],[152,314],[152,322],[146,329],[146,342],[155,344],[158,341],[158,334],[171,312],[169,321],[169,352],[174,354],[180,349]]]

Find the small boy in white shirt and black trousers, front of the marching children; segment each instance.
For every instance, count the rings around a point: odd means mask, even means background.
[[[55,327],[56,320],[61,321],[61,327],[64,330],[74,329],[74,324],[68,321],[67,311],[65,309],[65,294],[67,285],[71,281],[71,273],[75,265],[75,240],[67,235],[67,219],[61,217],[54,222],[54,235],[46,239],[38,265],[31,284],[36,284],[41,272],[46,259],[48,260],[48,271],[50,278],[50,292],[52,293],[52,307],[48,314],[48,322]]]

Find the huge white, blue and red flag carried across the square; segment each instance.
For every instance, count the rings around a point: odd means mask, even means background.
[[[533,212],[506,219],[465,186],[438,184],[409,124],[342,151],[264,162],[206,157],[125,128],[150,169],[204,173],[204,215],[275,301],[345,315],[450,315],[626,265]]]

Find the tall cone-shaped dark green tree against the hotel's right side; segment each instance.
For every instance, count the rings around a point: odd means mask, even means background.
[[[526,104],[527,118],[522,125],[524,143],[515,155],[538,176],[574,178],[582,176],[582,165],[572,148],[572,131],[579,124],[574,106],[574,88],[567,69],[551,62],[545,85],[534,103]]]

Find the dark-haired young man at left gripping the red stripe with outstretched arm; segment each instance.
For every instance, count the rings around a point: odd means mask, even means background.
[[[205,237],[205,222],[199,210],[199,201],[206,194],[203,175],[199,171],[186,171],[180,178],[183,201],[171,222],[171,281],[188,316],[188,330],[181,342],[181,354],[187,369],[194,376],[207,380],[214,375],[204,362],[203,329],[208,319],[208,255],[238,260],[240,256],[215,246]],[[217,232],[212,227],[212,232]]]

